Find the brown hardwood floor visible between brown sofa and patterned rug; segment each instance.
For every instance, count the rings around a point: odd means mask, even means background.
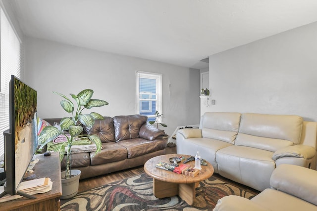
[[[166,154],[176,154],[176,147],[166,147]],[[129,178],[134,175],[144,173],[143,166],[121,170],[106,175],[96,176],[88,179],[83,179],[79,181],[78,192],[83,192],[95,187],[100,187],[110,182],[121,180],[124,178]]]

